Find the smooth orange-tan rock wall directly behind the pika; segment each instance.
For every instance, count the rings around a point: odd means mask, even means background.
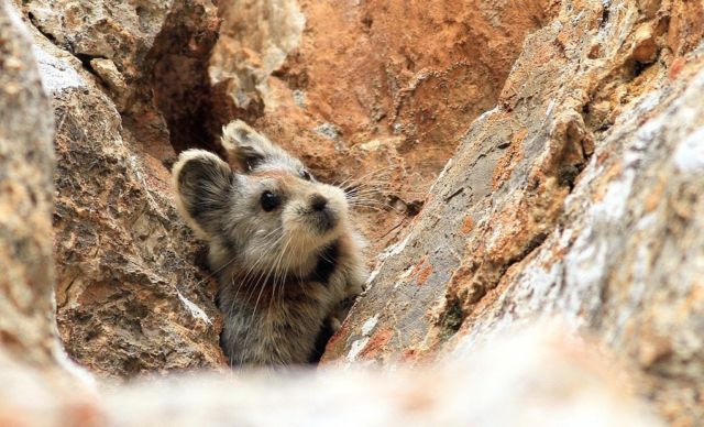
[[[469,123],[496,103],[526,34],[554,8],[547,0],[294,3],[221,7],[212,128],[245,118],[318,177],[364,183],[369,206],[358,221],[375,254],[403,238],[417,211],[394,202],[422,205]],[[374,141],[393,144],[369,150]]]

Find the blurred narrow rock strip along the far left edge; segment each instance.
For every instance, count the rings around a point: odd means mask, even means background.
[[[7,9],[6,9],[7,8]],[[29,33],[0,3],[0,347],[25,362],[55,360],[48,98]]]

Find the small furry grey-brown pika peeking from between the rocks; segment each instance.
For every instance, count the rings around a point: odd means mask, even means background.
[[[364,241],[344,190],[237,120],[222,130],[229,161],[183,152],[176,205],[208,243],[233,366],[317,361],[367,277]]]

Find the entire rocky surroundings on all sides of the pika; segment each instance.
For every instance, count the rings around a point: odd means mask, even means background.
[[[635,392],[673,425],[702,424],[703,8],[16,2],[31,34],[0,14],[0,420],[274,424],[266,396],[321,424],[654,425]],[[233,118],[358,186],[380,265],[323,380],[50,402],[63,392],[16,363],[61,363],[54,284],[64,347],[100,376],[224,365],[215,283],[165,166],[186,147],[218,152]],[[536,318],[565,329],[516,329]],[[351,363],[418,371],[334,369]],[[22,384],[44,397],[14,398]],[[191,387],[198,398],[179,392]],[[120,408],[134,402],[146,408],[131,418]],[[323,403],[340,412],[312,412]]]

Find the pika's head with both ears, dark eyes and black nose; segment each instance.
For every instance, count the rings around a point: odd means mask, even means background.
[[[177,206],[201,238],[237,253],[241,266],[292,270],[343,233],[341,188],[317,182],[242,121],[223,129],[222,144],[239,171],[202,150],[183,152],[173,168]]]

